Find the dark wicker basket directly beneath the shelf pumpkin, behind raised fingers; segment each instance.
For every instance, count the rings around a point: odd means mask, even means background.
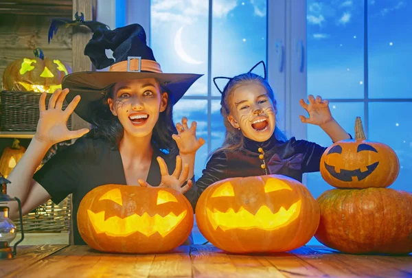
[[[33,131],[37,129],[38,101],[40,93],[21,91],[1,91],[1,131]],[[46,106],[52,94],[47,94]],[[63,109],[67,107],[67,102],[63,103]],[[71,117],[67,121],[67,127],[71,130]]]

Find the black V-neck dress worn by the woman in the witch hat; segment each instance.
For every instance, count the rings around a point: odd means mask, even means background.
[[[176,167],[176,158],[161,152],[153,146],[152,162],[147,182],[158,186],[161,182],[159,163],[161,157],[168,165],[170,174]],[[34,180],[43,186],[58,204],[69,194],[73,194],[73,240],[76,245],[86,244],[80,237],[77,226],[77,211],[80,201],[91,189],[109,183],[126,185],[122,157],[117,148],[114,150],[104,139],[82,137],[73,145],[57,152],[43,167],[34,174]],[[194,206],[198,200],[198,188],[192,178],[192,188],[184,195]]]

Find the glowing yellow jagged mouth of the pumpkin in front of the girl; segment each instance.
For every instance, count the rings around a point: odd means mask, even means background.
[[[301,200],[298,200],[289,209],[280,207],[276,213],[263,205],[255,215],[244,209],[244,207],[240,207],[237,212],[233,209],[228,209],[226,212],[214,209],[212,212],[207,208],[207,217],[215,230],[220,227],[223,231],[229,229],[264,229],[271,231],[293,222],[299,216],[300,209]]]

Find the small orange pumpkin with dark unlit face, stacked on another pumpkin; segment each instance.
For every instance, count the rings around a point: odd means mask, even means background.
[[[337,188],[389,187],[399,174],[399,159],[384,143],[365,138],[356,117],[355,139],[338,141],[321,158],[323,179]]]

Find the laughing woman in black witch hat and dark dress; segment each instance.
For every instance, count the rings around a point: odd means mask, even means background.
[[[106,57],[106,49],[115,60]],[[110,66],[109,71],[65,76],[65,89],[56,91],[47,105],[45,93],[41,95],[36,135],[8,176],[10,194],[20,198],[23,214],[49,198],[58,204],[73,194],[74,244],[85,244],[76,220],[80,201],[99,185],[171,187],[194,208],[200,194],[194,156],[205,143],[196,138],[196,122],[189,128],[184,118],[184,129],[179,124],[177,132],[172,121],[173,105],[201,75],[163,73],[141,25],[96,31],[84,54],[97,69]],[[65,99],[69,105],[62,111]],[[91,132],[67,129],[73,111],[93,126]],[[50,147],[78,137],[34,174]]]

